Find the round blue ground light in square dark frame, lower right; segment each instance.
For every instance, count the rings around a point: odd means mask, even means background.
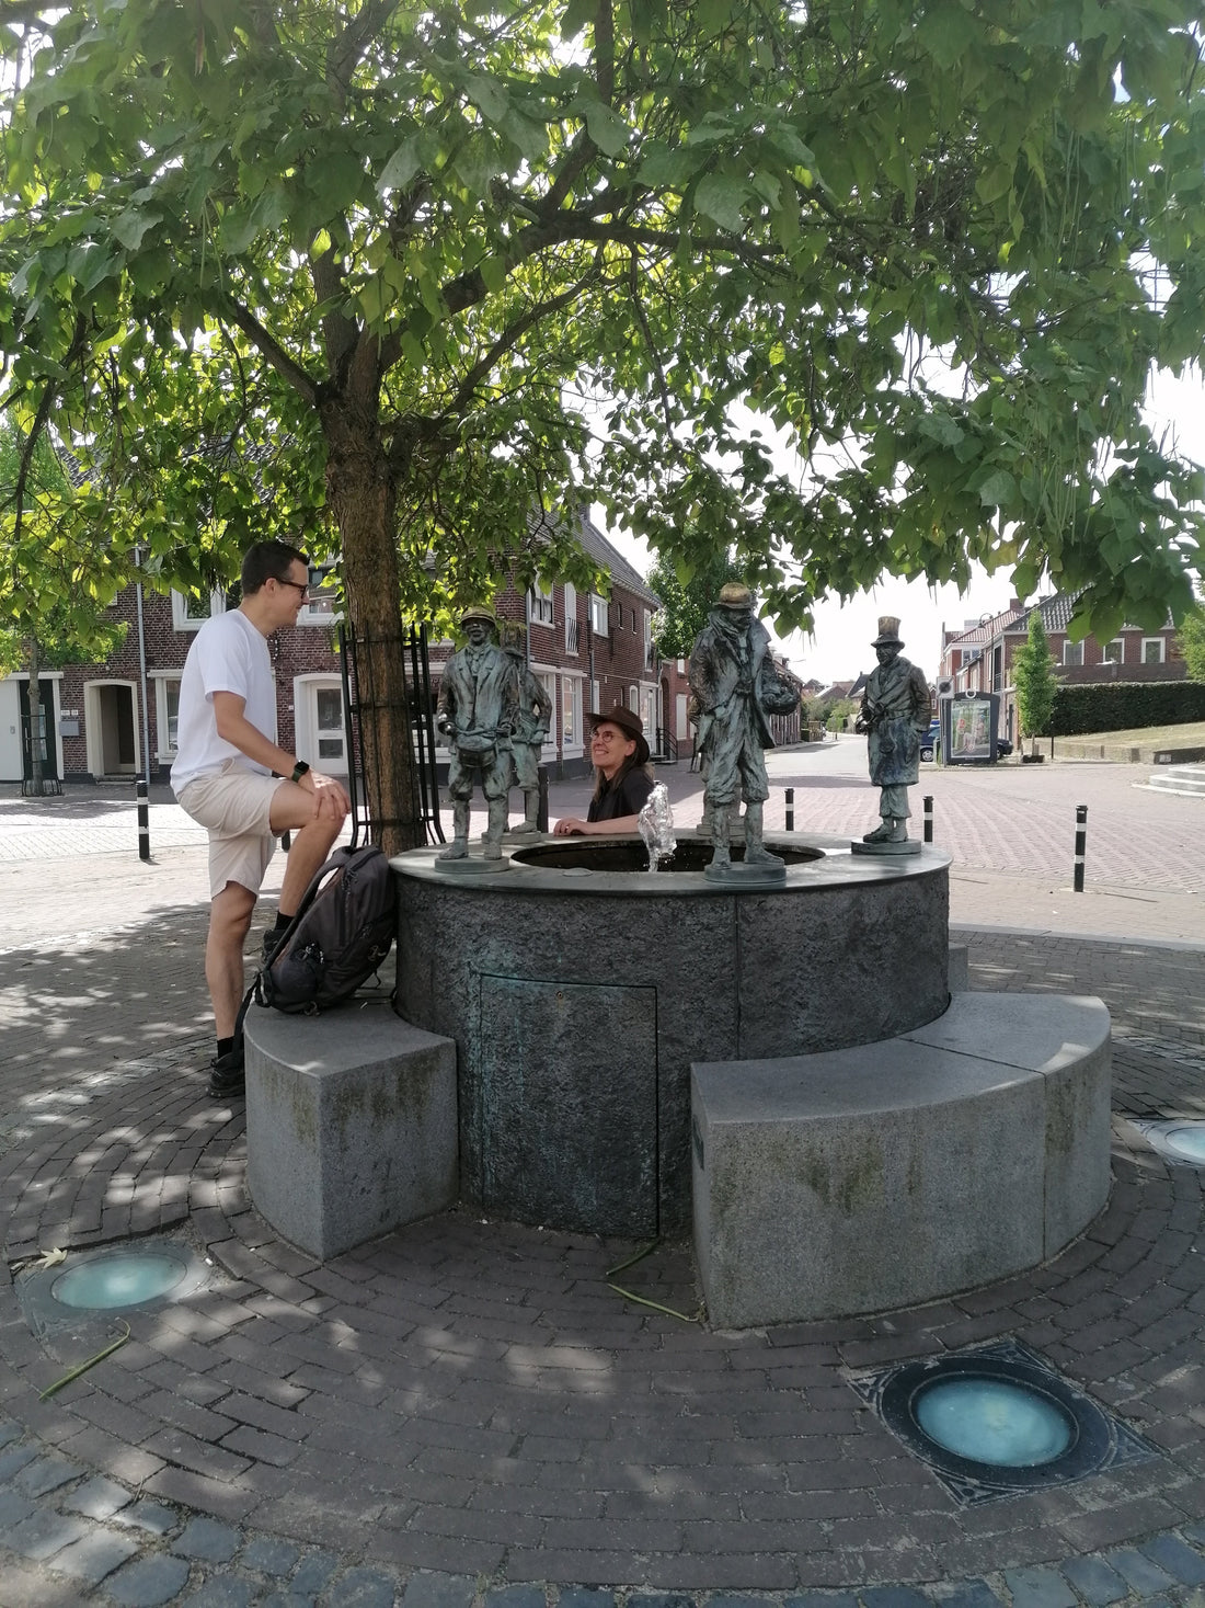
[[[940,1380],[921,1391],[916,1421],[956,1457],[999,1468],[1035,1468],[1068,1449],[1075,1425],[1044,1396],[1004,1380]]]

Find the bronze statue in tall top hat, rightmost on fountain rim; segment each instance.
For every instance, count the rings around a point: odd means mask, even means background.
[[[879,635],[871,646],[879,669],[866,677],[855,730],[869,735],[871,781],[880,788],[882,818],[855,847],[863,852],[916,852],[919,844],[908,838],[908,788],[921,780],[921,738],[929,732],[933,708],[929,682],[900,654],[900,621],[893,614],[879,616]]]

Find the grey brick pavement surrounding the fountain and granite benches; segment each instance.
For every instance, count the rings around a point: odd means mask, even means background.
[[[1097,783],[1105,815],[1112,781]],[[964,796],[938,820],[956,804],[974,815]],[[1187,859],[1191,828],[1150,827],[1150,798],[1129,836],[1162,833]],[[1062,820],[1060,799],[1040,802]],[[1200,806],[1171,802],[1199,831]],[[808,825],[850,830],[848,815]],[[983,833],[986,849],[996,836]],[[469,1212],[326,1264],[280,1241],[247,1201],[241,1106],[204,1095],[201,867],[194,846],[135,875],[120,854],[63,843],[0,880],[29,933],[13,941],[6,902],[0,1608],[1205,1602],[1202,1174],[1165,1161],[1141,1127],[1205,1116],[1200,899],[1176,944],[1011,931],[1027,925],[1028,889],[1007,867],[977,868],[995,925],[962,920],[954,934],[972,986],[1099,994],[1113,1015],[1115,1183],[1081,1240],[916,1311],[718,1333],[689,1320],[699,1298],[680,1245],[620,1283],[684,1317],[612,1288],[631,1246]],[[1093,918],[1133,905],[1157,929],[1189,897],[1125,886],[1142,899],[1102,897]],[[119,1327],[37,1338],[19,1299],[32,1261],[156,1235],[191,1248],[199,1288],[130,1314],[120,1349],[42,1401]],[[962,1507],[850,1383],[1003,1338],[1155,1455]]]

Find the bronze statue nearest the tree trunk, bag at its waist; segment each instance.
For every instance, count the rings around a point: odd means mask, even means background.
[[[469,802],[480,785],[488,807],[485,859],[501,859],[506,804],[511,786],[511,732],[519,714],[514,664],[498,646],[498,622],[485,608],[460,617],[468,646],[443,666],[435,703],[435,725],[448,745],[448,798],[453,838],[440,860],[463,860],[469,852]]]

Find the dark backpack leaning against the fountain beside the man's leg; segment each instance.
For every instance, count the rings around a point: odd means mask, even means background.
[[[315,872],[297,915],[255,978],[260,1005],[320,1011],[366,982],[397,925],[394,873],[381,849],[336,849]]]

